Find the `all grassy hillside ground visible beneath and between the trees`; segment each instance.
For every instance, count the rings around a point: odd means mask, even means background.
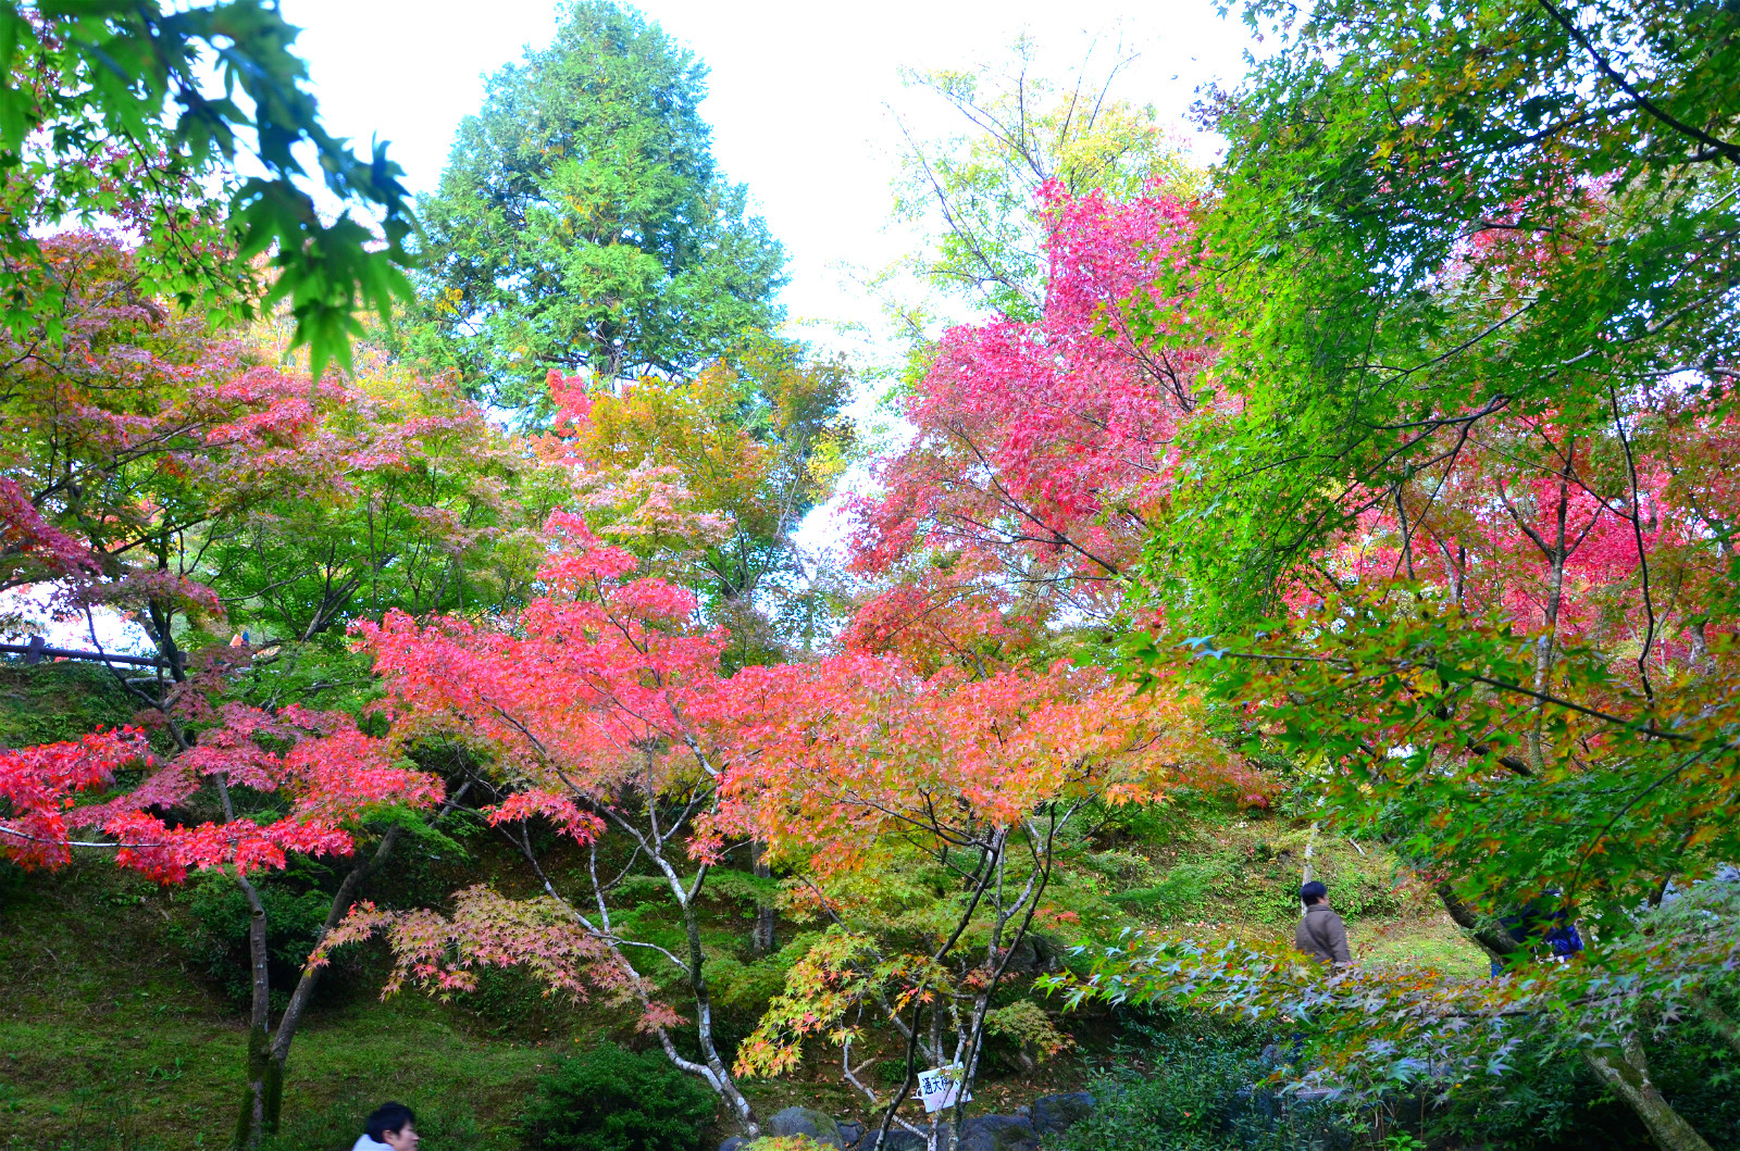
[[[130,706],[103,675],[80,666],[0,664],[0,746],[64,739],[125,722]],[[1093,854],[1105,895],[1126,913],[1174,928],[1213,927],[1291,935],[1308,833],[1281,819],[1228,817],[1133,829]],[[1477,974],[1479,955],[1382,854],[1319,840],[1314,866],[1338,892],[1355,951],[1373,960],[1429,961]],[[505,887],[499,861],[478,861]],[[501,873],[501,875],[496,875]],[[466,878],[437,876],[437,890]],[[171,927],[186,895],[118,875],[97,861],[52,876],[0,873],[0,1151],[153,1151],[228,1144],[238,1102],[245,1031],[235,1008],[197,977]],[[727,946],[727,923],[720,946]],[[720,972],[724,975],[724,970]],[[374,1104],[397,1097],[423,1121],[425,1148],[508,1149],[532,1081],[574,1040],[633,1041],[621,1019],[527,1005],[524,986],[494,984],[468,1003],[405,993],[372,996],[379,974],[357,977],[313,1012],[296,1040],[285,1087],[284,1151],[348,1148]],[[726,981],[727,982],[727,981]],[[1103,1048],[1103,1028],[1063,1024],[1081,1050]],[[752,1083],[757,1111],[790,1102],[858,1114],[826,1052],[792,1081]],[[1082,1081],[1081,1059],[1007,1068],[978,1088],[1006,1111]],[[724,1127],[720,1135],[729,1134]]]

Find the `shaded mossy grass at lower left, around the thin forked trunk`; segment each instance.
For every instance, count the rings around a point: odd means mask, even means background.
[[[224,1146],[245,1052],[240,1019],[167,939],[165,892],[99,862],[14,883],[0,930],[0,1148]],[[550,1048],[470,1035],[416,995],[358,998],[296,1040],[285,1146],[338,1148],[385,1097],[430,1113],[426,1146],[508,1148]]]

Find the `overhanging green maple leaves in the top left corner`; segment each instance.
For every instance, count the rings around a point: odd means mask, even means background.
[[[357,311],[388,318],[411,299],[416,217],[385,144],[360,156],[320,125],[296,35],[266,0],[0,3],[0,294],[14,330],[52,315],[31,275],[33,230],[108,216],[148,240],[150,294],[242,316],[261,294],[264,308],[287,301],[315,376],[350,363]],[[238,174],[244,155],[259,176]],[[378,219],[324,221],[311,179]]]

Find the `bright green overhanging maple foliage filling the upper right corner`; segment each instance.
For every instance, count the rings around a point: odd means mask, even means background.
[[[1173,285],[1237,402],[1194,429],[1148,553],[1202,629],[1268,612],[1474,424],[1611,428],[1610,389],[1719,393],[1740,358],[1731,3],[1244,12],[1279,49],[1206,104],[1230,148]]]

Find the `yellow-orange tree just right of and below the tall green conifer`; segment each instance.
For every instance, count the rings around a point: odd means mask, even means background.
[[[793,532],[853,450],[840,362],[753,337],[693,381],[588,388],[552,372],[546,388],[557,414],[539,442],[545,459],[585,492],[600,536],[698,593],[703,615],[729,636],[727,671],[814,650],[839,596]],[[755,875],[769,878],[760,848],[752,854]],[[757,951],[773,951],[766,899],[753,937]]]

